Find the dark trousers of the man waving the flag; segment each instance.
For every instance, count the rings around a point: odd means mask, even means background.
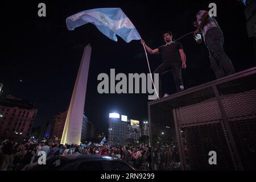
[[[183,82],[181,79],[181,66],[182,66],[181,62],[176,61],[176,62],[164,62],[161,65],[159,65],[158,68],[156,68],[154,73],[159,73],[159,97],[163,97],[161,76],[170,70],[174,75],[174,81],[176,84],[177,92],[180,92],[184,89]]]

